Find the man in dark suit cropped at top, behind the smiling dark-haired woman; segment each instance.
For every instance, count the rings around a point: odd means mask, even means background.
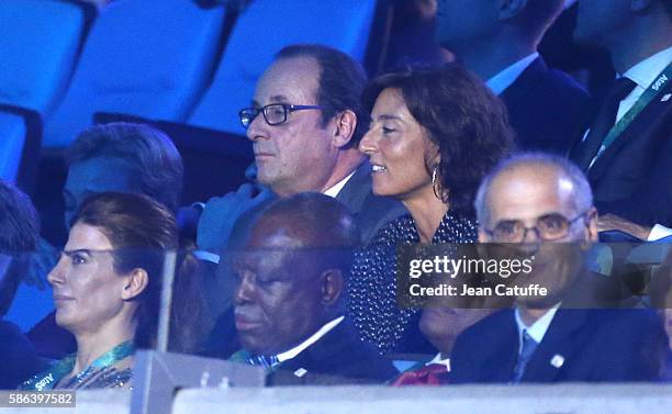
[[[565,154],[589,101],[537,52],[564,0],[439,0],[436,40],[500,96],[522,149]]]

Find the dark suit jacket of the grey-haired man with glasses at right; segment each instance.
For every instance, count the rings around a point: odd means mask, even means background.
[[[662,324],[650,310],[561,307],[522,382],[656,381],[665,345]],[[450,378],[455,383],[509,382],[518,349],[514,311],[500,311],[457,338]],[[551,363],[556,356],[564,359],[559,368]]]

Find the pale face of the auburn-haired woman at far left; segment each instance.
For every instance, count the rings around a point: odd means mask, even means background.
[[[47,280],[56,323],[72,333],[104,328],[123,307],[126,278],[113,267],[112,244],[99,227],[75,224]]]

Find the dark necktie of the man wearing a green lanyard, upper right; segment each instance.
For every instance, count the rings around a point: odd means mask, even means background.
[[[589,170],[591,161],[600,152],[604,138],[616,123],[616,115],[618,114],[620,101],[630,94],[636,86],[637,83],[632,80],[623,77],[617,79],[609,89],[595,120],[591,124],[591,131],[585,137],[585,141],[579,144],[576,154],[572,156],[572,160],[576,163],[583,171]]]

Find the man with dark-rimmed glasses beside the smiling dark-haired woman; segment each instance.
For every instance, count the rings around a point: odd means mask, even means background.
[[[219,255],[239,246],[273,199],[307,191],[343,202],[355,215],[362,243],[402,215],[401,203],[371,193],[371,166],[358,150],[369,120],[360,103],[366,83],[361,65],[339,51],[322,45],[280,51],[257,82],[251,105],[239,112],[254,143],[256,182],[205,204],[199,248]],[[226,266],[219,271],[223,284],[231,280],[222,275]],[[221,303],[231,304],[233,288],[216,289]],[[223,324],[217,326],[221,331]],[[224,345],[211,347],[221,350]]]

